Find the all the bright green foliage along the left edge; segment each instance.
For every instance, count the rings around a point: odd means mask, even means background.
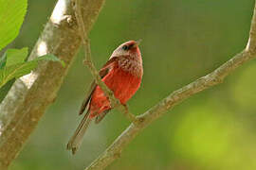
[[[0,0],[0,50],[18,36],[26,12],[27,0]],[[0,59],[0,101],[10,88],[10,86],[3,88],[9,80],[29,74],[37,67],[40,60],[61,61],[49,54],[26,61],[27,54],[27,47],[8,49]],[[62,64],[64,65],[63,61]]]

